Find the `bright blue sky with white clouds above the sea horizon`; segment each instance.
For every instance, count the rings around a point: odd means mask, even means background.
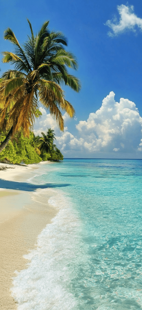
[[[72,74],[80,78],[81,91],[65,87],[75,119],[65,115],[65,131],[60,133],[43,111],[35,133],[51,126],[65,157],[142,158],[142,2],[1,0],[0,9],[1,51],[12,50],[3,40],[7,27],[20,43],[26,40],[27,17],[35,32],[50,20],[49,29],[65,34],[67,49],[78,59],[79,69]],[[9,64],[0,68],[2,73]]]

